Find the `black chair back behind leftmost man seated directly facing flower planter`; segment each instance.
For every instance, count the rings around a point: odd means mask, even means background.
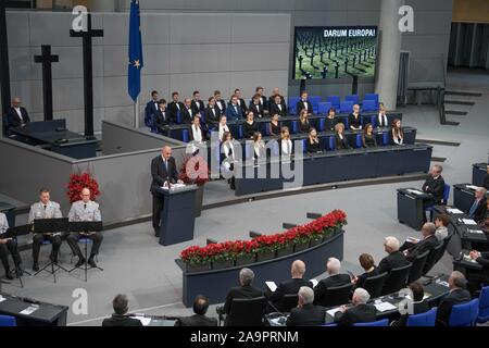
[[[262,326],[265,313],[265,297],[235,298],[231,301],[225,326]]]

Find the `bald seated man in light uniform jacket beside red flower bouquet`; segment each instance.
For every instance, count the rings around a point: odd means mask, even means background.
[[[102,214],[99,210],[99,203],[92,201],[90,189],[85,187],[80,194],[82,200],[78,200],[72,204],[72,209],[70,209],[68,219],[70,221],[102,221]],[[102,244],[103,236],[101,232],[90,232],[88,234],[71,232],[66,238],[70,248],[72,248],[73,254],[78,257],[78,262],[75,268],[79,268],[87,260],[82,253],[82,250],[78,246],[78,240],[80,238],[88,238],[93,240],[93,245],[91,246],[90,257],[88,258],[88,264],[91,268],[97,268],[97,263],[95,262],[96,254],[99,253],[100,245]]]

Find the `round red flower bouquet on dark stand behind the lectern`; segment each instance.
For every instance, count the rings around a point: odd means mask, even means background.
[[[196,191],[196,217],[202,213],[204,185],[209,182],[209,165],[200,154],[189,156],[184,159],[179,179],[186,185],[197,185]]]

